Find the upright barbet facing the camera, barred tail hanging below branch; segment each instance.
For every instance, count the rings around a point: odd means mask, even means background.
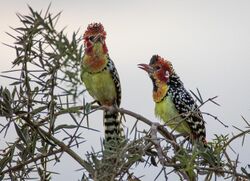
[[[118,72],[108,54],[106,32],[101,23],[89,24],[83,35],[84,56],[81,63],[81,80],[89,94],[99,105],[119,107],[121,85]],[[104,111],[105,142],[117,141],[123,135],[118,112]]]

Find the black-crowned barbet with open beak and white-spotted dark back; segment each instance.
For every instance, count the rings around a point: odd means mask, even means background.
[[[206,145],[205,121],[171,62],[153,55],[149,64],[139,64],[153,82],[155,115],[171,129]]]

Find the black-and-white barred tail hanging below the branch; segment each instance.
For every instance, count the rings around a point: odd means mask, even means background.
[[[111,142],[111,140],[118,143],[124,138],[119,115],[118,112],[104,111],[105,143]]]

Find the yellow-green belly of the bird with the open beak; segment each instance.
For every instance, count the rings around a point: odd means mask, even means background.
[[[165,97],[163,101],[155,104],[155,115],[163,120],[167,126],[179,133],[187,135],[191,133],[187,122],[178,113],[170,96]]]

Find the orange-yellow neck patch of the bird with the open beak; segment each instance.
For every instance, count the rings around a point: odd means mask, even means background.
[[[154,102],[161,102],[168,93],[168,85],[166,82],[155,80],[153,89]]]

